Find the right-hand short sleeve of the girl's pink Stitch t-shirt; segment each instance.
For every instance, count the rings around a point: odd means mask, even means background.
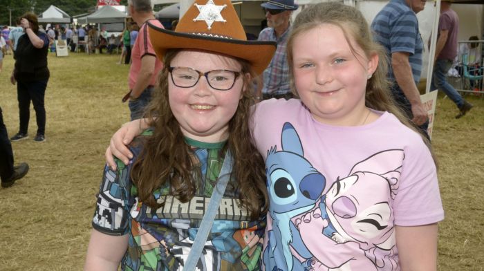
[[[395,225],[416,226],[442,221],[444,210],[436,165],[420,138],[404,149],[398,193],[393,201]]]

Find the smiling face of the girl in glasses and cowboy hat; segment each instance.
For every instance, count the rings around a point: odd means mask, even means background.
[[[181,51],[170,66],[193,68],[202,73],[213,70],[241,71],[241,64],[232,57],[198,50]],[[242,97],[243,76],[236,78],[230,90],[218,91],[210,87],[203,76],[195,86],[180,88],[175,86],[170,74],[167,77],[169,106],[183,134],[202,142],[227,139],[228,122]]]

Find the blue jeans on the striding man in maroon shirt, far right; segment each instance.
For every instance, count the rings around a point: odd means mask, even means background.
[[[432,89],[443,91],[450,100],[460,109],[464,105],[463,97],[456,91],[454,86],[447,82],[447,71],[452,67],[452,61],[447,59],[437,59],[432,74]]]

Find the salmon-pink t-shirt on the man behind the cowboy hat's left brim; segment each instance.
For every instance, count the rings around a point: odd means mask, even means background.
[[[163,28],[162,24],[157,19],[149,19],[148,21],[150,24],[153,24],[153,26]],[[156,57],[155,50],[153,50],[153,46],[151,46],[151,41],[149,40],[147,22],[145,22],[145,24],[142,24],[135,44],[133,45],[133,48],[131,48],[131,67],[129,67],[130,89],[134,87],[134,84],[138,79],[138,73],[141,68],[142,57],[144,57],[145,55],[153,55],[154,57]],[[156,78],[158,78],[158,73],[161,71],[162,67],[163,64],[161,63],[160,59],[156,57],[155,70],[153,72],[153,76],[151,76],[151,80],[149,82],[150,85],[154,86],[156,84]]]

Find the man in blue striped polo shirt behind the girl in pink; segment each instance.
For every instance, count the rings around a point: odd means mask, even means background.
[[[391,63],[391,92],[413,123],[427,134],[427,111],[420,101],[417,84],[422,72],[422,37],[416,13],[425,8],[426,0],[391,0],[371,24],[375,40],[387,49]]]

